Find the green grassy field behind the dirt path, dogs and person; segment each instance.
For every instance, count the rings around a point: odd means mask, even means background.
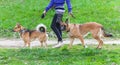
[[[114,37],[120,37],[120,0],[71,0],[73,14],[71,23],[95,21],[101,23]],[[17,22],[28,29],[34,29],[39,23],[50,29],[54,10],[41,19],[49,0],[0,0],[0,37],[13,37],[11,30]],[[66,7],[66,6],[65,6]],[[63,20],[68,16],[67,7]]]

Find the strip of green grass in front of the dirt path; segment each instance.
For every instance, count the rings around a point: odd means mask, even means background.
[[[96,49],[75,45],[67,49],[19,48],[0,49],[0,65],[119,65],[120,45],[105,45]]]

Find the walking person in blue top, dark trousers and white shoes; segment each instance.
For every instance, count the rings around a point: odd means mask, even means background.
[[[61,31],[60,22],[62,20],[63,14],[65,12],[65,9],[64,9],[65,3],[67,4],[68,13],[71,15],[72,14],[72,6],[71,6],[70,0],[50,0],[50,3],[45,8],[45,10],[41,16],[41,18],[44,18],[46,15],[46,12],[48,12],[48,10],[54,6],[55,14],[54,14],[54,17],[53,17],[53,20],[51,23],[51,28],[58,38],[58,44],[53,46],[53,48],[61,47],[64,45],[63,40],[62,40],[62,31]]]

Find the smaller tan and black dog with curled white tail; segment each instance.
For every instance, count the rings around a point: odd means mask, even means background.
[[[34,39],[38,39],[41,43],[41,46],[43,46],[43,43],[45,44],[45,47],[47,46],[47,33],[46,33],[46,26],[43,24],[39,24],[36,27],[36,30],[27,30],[20,24],[16,24],[14,32],[19,32],[20,37],[23,39],[25,45],[28,45],[30,47],[30,42]]]

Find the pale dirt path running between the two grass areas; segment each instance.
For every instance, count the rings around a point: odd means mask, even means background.
[[[120,44],[120,39],[103,39],[104,44]],[[65,39],[64,43],[68,44],[70,42],[69,39]],[[56,44],[56,40],[48,40],[48,45]],[[76,39],[74,44],[81,44],[81,42]],[[94,39],[85,39],[85,44],[98,44],[98,42]],[[0,39],[0,48],[20,48],[23,47],[24,42],[21,39]],[[31,47],[40,46],[38,40],[31,42]]]

